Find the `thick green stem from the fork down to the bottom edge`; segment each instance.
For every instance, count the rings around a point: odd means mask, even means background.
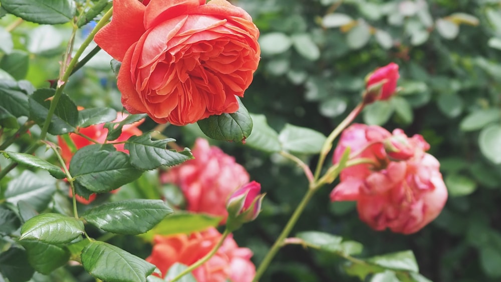
[[[296,210],[292,214],[291,218],[289,218],[289,221],[287,222],[287,225],[285,226],[285,228],[282,230],[282,233],[280,233],[280,236],[277,238],[277,240],[273,244],[272,248],[268,251],[265,258],[263,259],[263,261],[259,265],[258,269],[256,270],[256,276],[254,277],[253,282],[258,281],[259,278],[261,278],[263,273],[266,271],[266,269],[268,268],[268,266],[272,262],[273,257],[275,257],[275,254],[277,254],[279,249],[284,244],[285,238],[287,236],[289,236],[289,233],[291,233],[292,228],[294,227],[294,225],[298,221],[299,217],[301,216],[301,213],[303,213],[303,210],[305,209],[306,205],[308,204],[308,202],[310,201],[310,199],[312,198],[313,194],[315,194],[316,191],[317,191],[317,189],[308,189],[305,196],[303,197],[303,199],[299,203],[298,207],[296,208]]]

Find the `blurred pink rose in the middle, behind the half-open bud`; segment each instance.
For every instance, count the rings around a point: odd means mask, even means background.
[[[249,182],[249,175],[235,158],[209,146],[205,139],[198,138],[191,152],[195,158],[169,169],[162,175],[162,181],[181,188],[187,210],[221,216],[225,222],[226,201]]]

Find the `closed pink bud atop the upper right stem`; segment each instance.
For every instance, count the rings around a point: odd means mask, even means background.
[[[369,74],[364,93],[365,104],[391,98],[395,94],[399,77],[398,65],[395,63],[378,68]]]

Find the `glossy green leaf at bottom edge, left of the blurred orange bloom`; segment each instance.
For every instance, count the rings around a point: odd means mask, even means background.
[[[82,264],[92,276],[107,282],[145,282],[155,265],[105,242],[93,241],[82,251]]]

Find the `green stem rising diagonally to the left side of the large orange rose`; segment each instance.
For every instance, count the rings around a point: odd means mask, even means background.
[[[51,101],[51,107],[49,108],[49,113],[47,114],[47,119],[45,120],[44,126],[42,127],[42,132],[40,133],[40,139],[44,140],[47,136],[47,130],[49,129],[49,125],[51,124],[52,116],[56,111],[56,106],[59,102],[59,99],[61,98],[61,95],[63,94],[63,90],[68,82],[68,79],[70,78],[70,75],[72,74],[72,71],[78,62],[78,59],[80,58],[80,56],[82,56],[87,46],[89,46],[89,44],[92,42],[96,33],[108,23],[108,20],[111,18],[112,14],[113,8],[111,8],[108,12],[106,12],[106,14],[104,14],[103,18],[97,23],[96,27],[82,43],[82,46],[80,46],[80,48],[77,50],[75,56],[73,57],[73,59],[71,59],[68,67],[65,69],[64,74],[59,79],[56,93],[54,94],[54,97]],[[65,63],[66,62],[63,62],[63,64]]]

